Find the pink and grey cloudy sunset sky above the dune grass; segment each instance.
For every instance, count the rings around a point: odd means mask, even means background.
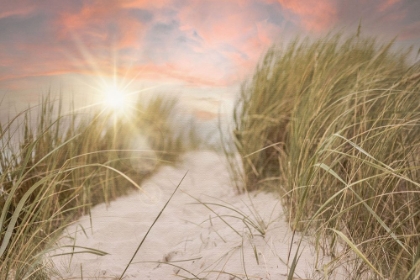
[[[359,22],[365,34],[420,46],[418,0],[0,0],[0,7],[3,111],[49,90],[88,98],[114,78],[137,90],[228,94],[274,43],[354,32]]]

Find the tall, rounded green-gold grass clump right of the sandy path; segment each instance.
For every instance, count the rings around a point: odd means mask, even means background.
[[[360,32],[274,46],[235,112],[246,188],[280,192],[336,261],[347,245],[354,278],[420,273],[420,64],[392,48]]]

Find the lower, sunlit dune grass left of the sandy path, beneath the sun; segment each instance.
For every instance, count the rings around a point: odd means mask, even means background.
[[[0,279],[48,279],[46,244],[69,222],[194,148],[198,138],[187,146],[170,125],[176,103],[138,102],[128,121],[99,110],[63,115],[47,98],[36,120],[27,110],[0,125]],[[139,135],[149,144],[136,149]]]

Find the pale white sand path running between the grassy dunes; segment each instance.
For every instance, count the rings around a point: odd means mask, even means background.
[[[226,163],[213,152],[188,153],[177,167],[163,167],[148,179],[143,192],[121,197],[109,207],[94,207],[92,225],[90,218],[84,216],[68,227],[57,246],[76,244],[108,255],[53,257],[61,274],[54,279],[118,279],[187,171],[124,279],[286,279],[292,232],[279,200],[266,193],[236,195]],[[207,204],[213,212],[189,195],[203,203],[220,205]],[[245,223],[244,217],[260,224],[265,236]],[[295,236],[289,263],[299,238]],[[301,249],[294,277],[319,278],[313,247],[304,242]],[[61,248],[50,255],[69,251]]]

